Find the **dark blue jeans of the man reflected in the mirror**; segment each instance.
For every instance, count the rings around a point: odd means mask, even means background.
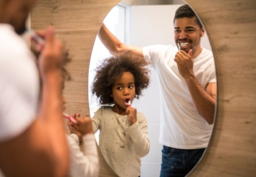
[[[164,146],[162,148],[162,164],[160,177],[185,176],[197,164],[205,148],[180,150]]]

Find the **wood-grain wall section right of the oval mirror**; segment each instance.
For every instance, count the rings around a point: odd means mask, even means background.
[[[218,101],[210,145],[190,176],[256,175],[256,1],[186,1],[215,57]]]

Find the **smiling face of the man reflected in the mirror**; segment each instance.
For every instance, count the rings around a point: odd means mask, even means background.
[[[204,35],[204,29],[200,29],[193,18],[177,18],[174,21],[174,39],[180,50],[188,53],[189,49],[195,52],[201,48],[201,37]]]

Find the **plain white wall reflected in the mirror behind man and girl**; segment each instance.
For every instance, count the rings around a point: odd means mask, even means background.
[[[131,7],[131,45],[147,46],[151,44],[174,43],[173,18],[180,5],[132,6]],[[211,50],[207,35],[201,42],[204,48]],[[142,158],[141,176],[160,175],[161,150],[159,143],[160,99],[156,73],[151,69],[150,87],[143,91],[139,100],[133,101],[134,108],[143,112],[148,120],[150,152]]]

